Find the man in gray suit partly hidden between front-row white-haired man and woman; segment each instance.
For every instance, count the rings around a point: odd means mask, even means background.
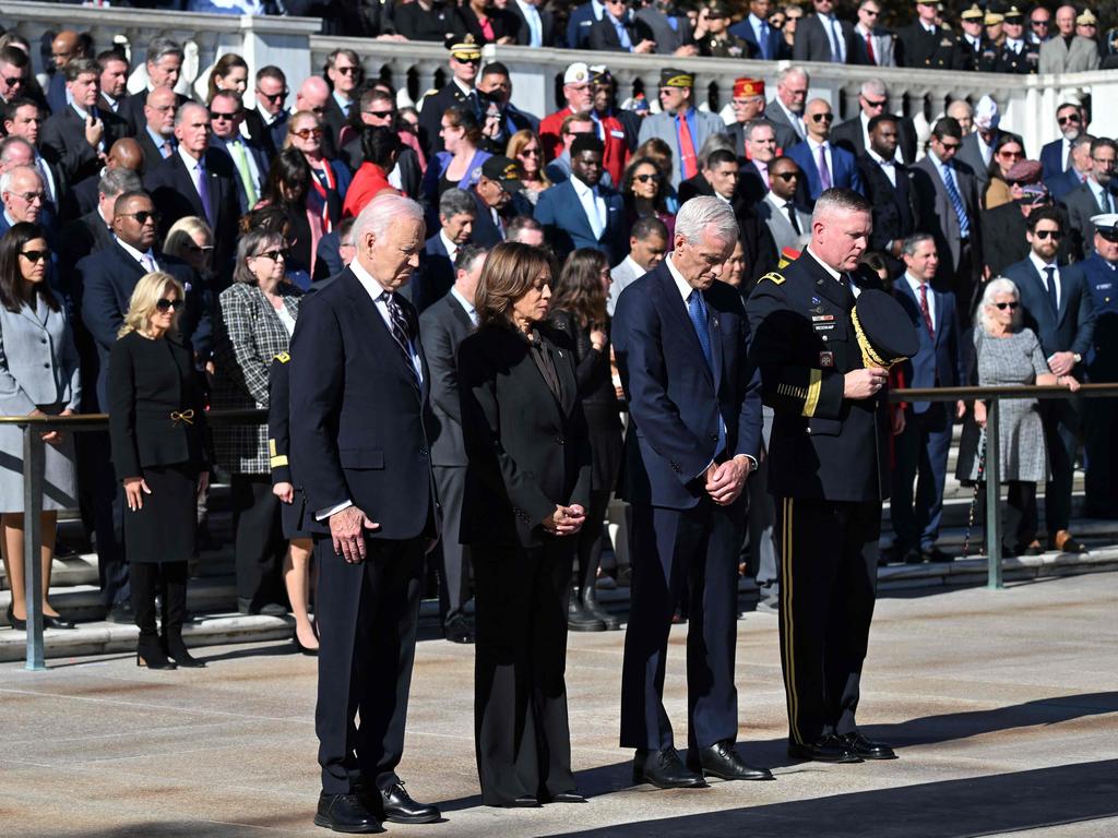
[[[462,610],[470,599],[468,551],[458,543],[462,501],[466,484],[462,406],[458,400],[458,344],[477,327],[474,293],[485,264],[486,248],[462,245],[455,255],[455,279],[449,292],[419,317],[427,363],[430,366],[430,461],[443,508],[442,564],[438,611],[443,636],[453,642],[474,640],[473,621]]]

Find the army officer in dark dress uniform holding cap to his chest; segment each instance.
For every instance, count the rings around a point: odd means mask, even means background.
[[[746,304],[773,408],[768,489],[780,530],[780,658],[788,702],[788,755],[824,762],[893,759],[854,721],[877,585],[881,504],[889,495],[887,363],[863,353],[870,325],[852,317],[851,273],[869,244],[871,207],[849,189],[828,189],[812,216],[806,251],[766,274]],[[896,305],[896,301],[889,299]],[[889,360],[916,351],[916,336],[889,336]],[[883,354],[883,353],[878,353]]]

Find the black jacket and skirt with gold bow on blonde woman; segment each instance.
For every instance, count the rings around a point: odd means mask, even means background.
[[[108,429],[117,480],[142,476],[143,507],[124,513],[129,562],[195,553],[198,475],[207,468],[206,411],[190,347],[131,332],[108,356]]]

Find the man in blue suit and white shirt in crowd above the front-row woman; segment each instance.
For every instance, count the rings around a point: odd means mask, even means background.
[[[625,204],[601,184],[605,145],[579,134],[570,145],[570,179],[540,193],[533,213],[559,259],[580,247],[601,250],[616,265],[625,256]]]

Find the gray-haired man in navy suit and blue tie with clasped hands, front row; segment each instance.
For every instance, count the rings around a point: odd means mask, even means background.
[[[718,282],[738,223],[719,198],[685,202],[674,250],[617,301],[614,350],[629,407],[622,495],[633,504],[633,600],[622,669],[622,747],[634,782],[768,780],[735,750],[738,552],[761,406],[741,296]],[[672,615],[690,592],[688,761],[664,710]]]

